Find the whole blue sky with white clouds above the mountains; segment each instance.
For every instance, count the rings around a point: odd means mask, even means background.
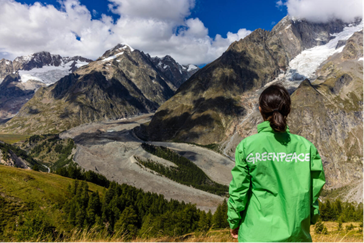
[[[119,43],[202,66],[284,16],[363,18],[363,0],[0,0],[0,59],[48,51],[97,59]]]

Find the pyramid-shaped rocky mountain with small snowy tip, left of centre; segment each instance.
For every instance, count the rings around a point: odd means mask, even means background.
[[[40,88],[5,129],[60,132],[83,123],[154,112],[179,87],[173,71],[161,71],[156,60],[128,45],[116,45],[96,61]],[[180,68],[171,57],[159,61]],[[191,70],[181,69],[176,80],[190,75]]]

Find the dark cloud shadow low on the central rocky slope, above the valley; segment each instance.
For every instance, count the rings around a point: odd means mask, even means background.
[[[245,113],[245,108],[239,105],[238,101],[222,96],[207,100],[201,98],[193,103],[195,109],[182,114],[177,113],[179,108],[157,112],[146,128],[148,140],[172,140],[179,136],[178,139],[182,141],[192,142],[209,132],[218,137],[225,130],[221,115],[236,117]]]

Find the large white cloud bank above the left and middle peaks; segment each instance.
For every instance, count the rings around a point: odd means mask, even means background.
[[[119,15],[114,20],[92,13],[78,0],[53,5],[0,0],[0,59],[14,59],[39,51],[91,59],[118,43],[128,43],[151,56],[171,55],[181,64],[205,64],[251,31],[240,29],[223,38],[209,36],[198,18],[188,18],[194,0],[109,0]]]

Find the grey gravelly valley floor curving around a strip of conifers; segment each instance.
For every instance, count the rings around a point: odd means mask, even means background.
[[[139,166],[135,156],[166,164],[173,163],[152,155],[141,147],[142,141],[133,132],[141,124],[150,122],[151,115],[141,115],[114,122],[83,124],[60,134],[72,138],[76,151],[74,161],[85,170],[92,170],[120,184],[126,183],[143,190],[163,194],[166,199],[176,199],[196,204],[198,208],[214,212],[224,198],[173,182]],[[210,179],[229,185],[234,162],[217,152],[192,144],[147,142],[176,151],[195,163]]]

